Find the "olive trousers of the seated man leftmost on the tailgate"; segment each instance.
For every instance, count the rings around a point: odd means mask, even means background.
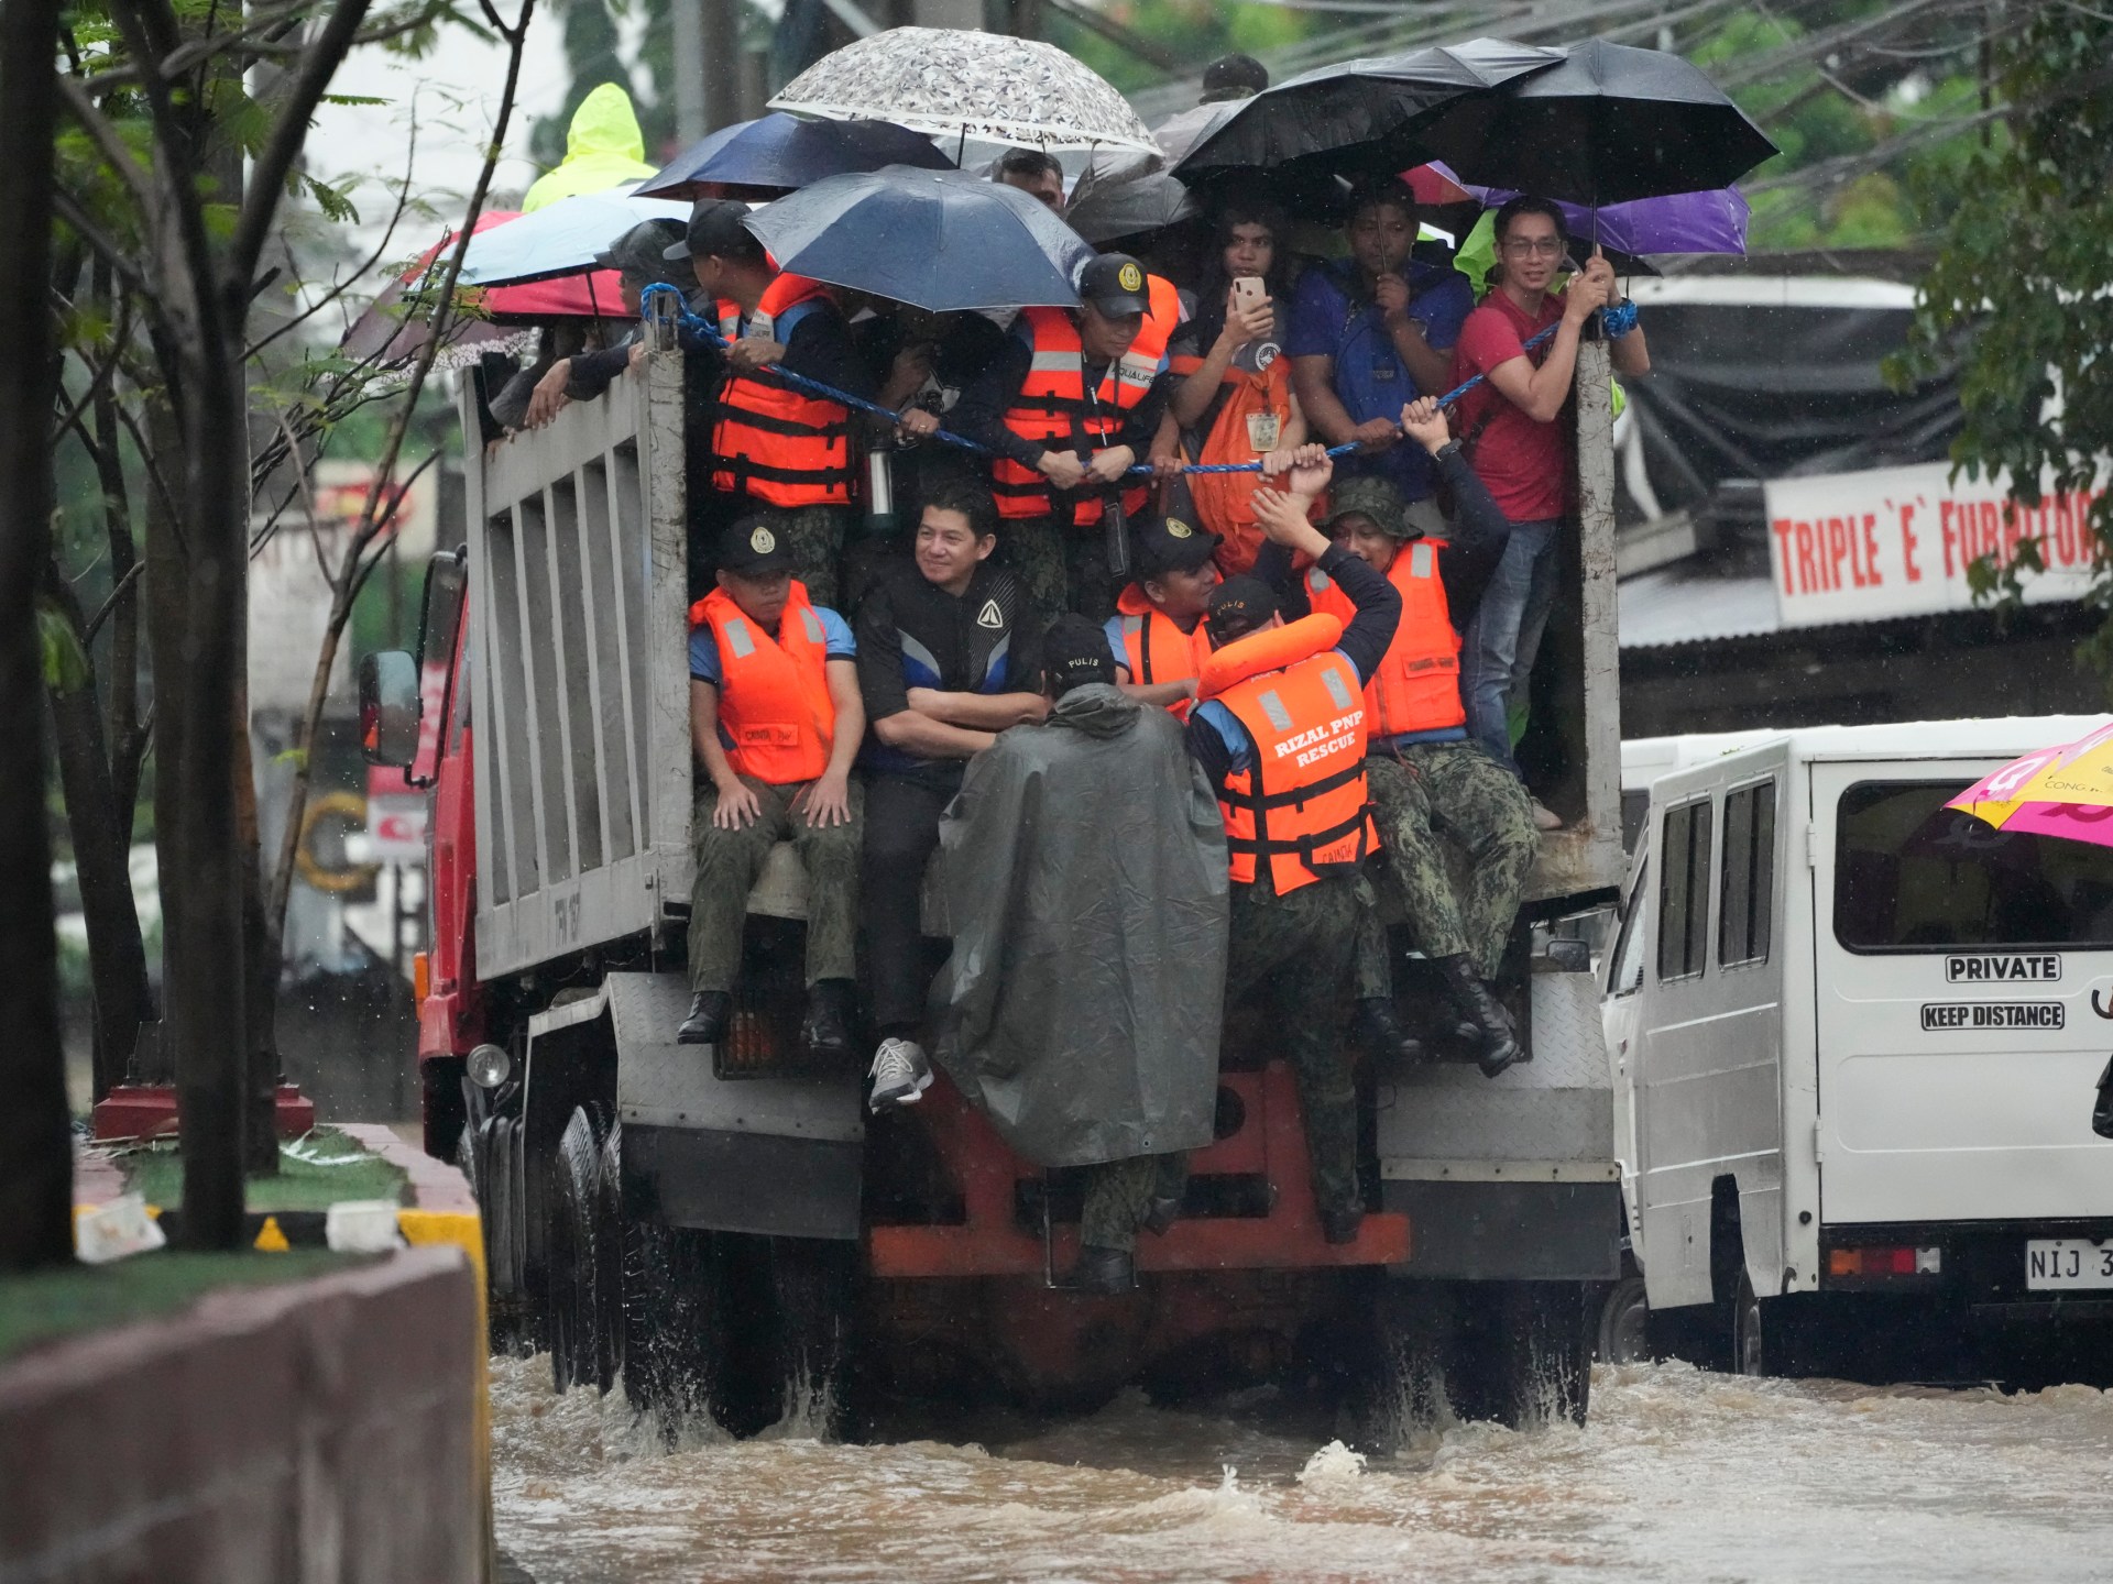
[[[852,781],[852,819],[809,826],[792,798],[811,781],[769,786],[752,775],[742,786],[756,794],[763,813],[740,830],[712,824],[718,788],[697,777],[697,805],[689,819],[697,879],[689,887],[689,988],[731,991],[742,969],[742,925],[748,889],[763,872],[771,847],[790,841],[807,870],[807,984],[858,978],[858,851],[864,830],[864,788]]]

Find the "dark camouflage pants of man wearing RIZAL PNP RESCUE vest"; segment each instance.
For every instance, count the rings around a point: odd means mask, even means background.
[[[1276,895],[1268,879],[1232,887],[1226,1005],[1268,997],[1299,1086],[1314,1200],[1357,1204],[1357,1086],[1342,1045],[1357,881],[1329,876]]]

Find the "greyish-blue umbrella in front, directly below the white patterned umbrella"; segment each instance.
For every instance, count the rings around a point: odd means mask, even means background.
[[[1092,249],[1037,199],[966,171],[830,175],[744,222],[782,268],[930,313],[1071,308]]]

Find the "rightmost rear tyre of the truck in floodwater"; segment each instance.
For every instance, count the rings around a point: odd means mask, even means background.
[[[1581,1282],[1488,1282],[1477,1295],[1466,1343],[1447,1381],[1462,1417],[1492,1417],[1513,1430],[1540,1430],[1557,1419],[1585,1423],[1591,1400],[1591,1345],[1597,1316],[1587,1312]],[[1469,1411],[1462,1398],[1473,1402]]]

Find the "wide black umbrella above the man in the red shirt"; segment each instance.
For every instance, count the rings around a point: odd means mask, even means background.
[[[1452,101],[1420,137],[1462,182],[1587,205],[1728,188],[1777,152],[1701,68],[1604,38]]]

